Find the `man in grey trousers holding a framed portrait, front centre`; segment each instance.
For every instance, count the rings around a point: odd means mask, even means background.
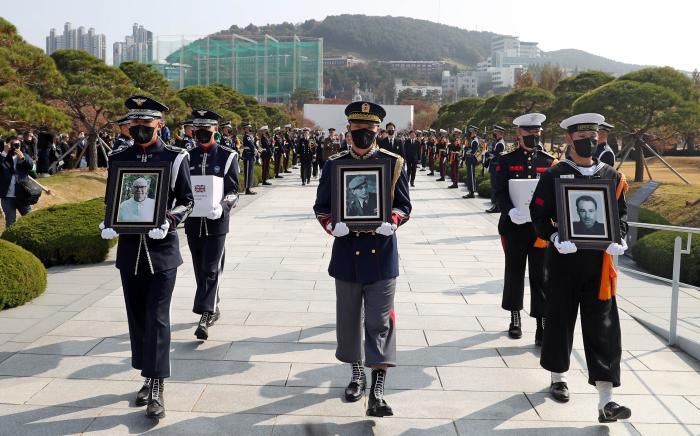
[[[321,226],[335,236],[328,273],[335,278],[336,357],[350,363],[352,378],[345,390],[347,401],[362,398],[366,381],[362,363],[363,308],[364,308],[364,364],[372,368],[372,388],[367,403],[367,415],[391,416],[391,407],[384,399],[387,368],[396,366],[396,319],[394,293],[399,275],[399,256],[396,231],[408,221],[411,213],[408,178],[403,169],[403,158],[376,143],[384,109],[374,103],[358,101],[345,108],[350,122],[352,148],[333,156],[319,182],[314,212]],[[389,159],[391,162],[392,216],[372,232],[350,232],[343,222],[331,216],[331,177],[333,165],[360,159]]]

